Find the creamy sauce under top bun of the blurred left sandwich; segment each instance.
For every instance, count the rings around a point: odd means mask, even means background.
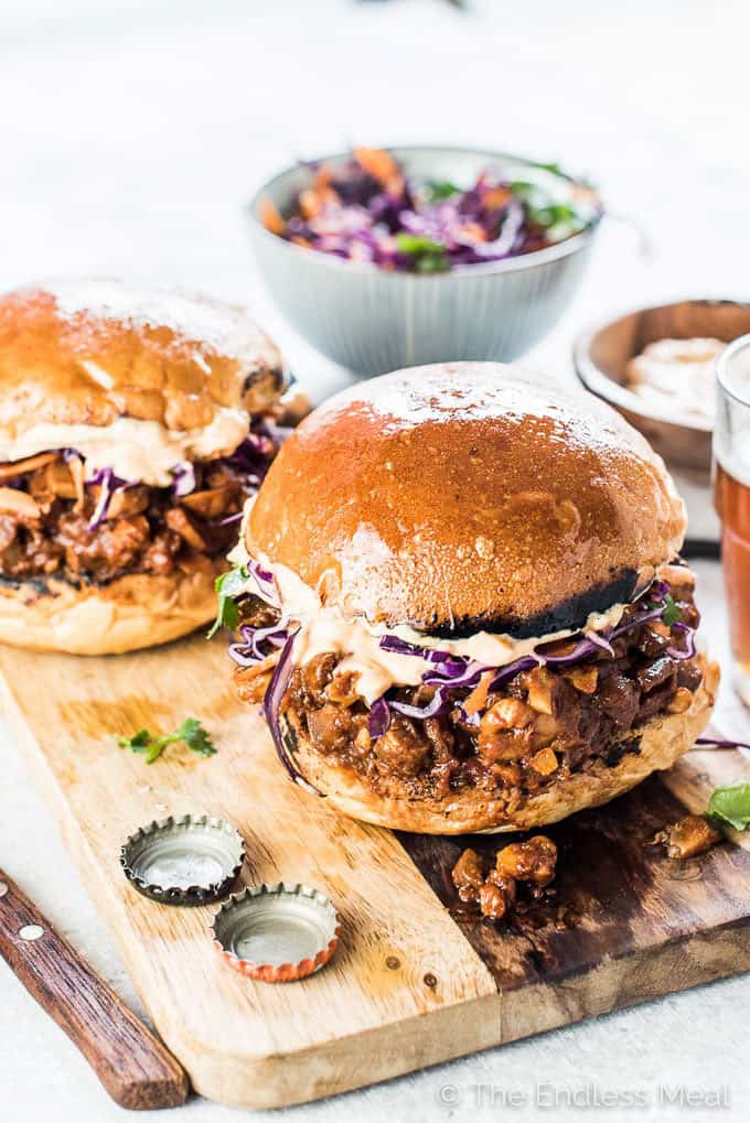
[[[166,487],[172,483],[172,468],[182,460],[233,453],[249,430],[247,414],[232,409],[220,409],[209,424],[184,431],[138,418],[118,418],[108,426],[43,421],[21,433],[0,431],[0,462],[74,448],[85,458],[88,476],[98,468],[111,467],[123,480]]]

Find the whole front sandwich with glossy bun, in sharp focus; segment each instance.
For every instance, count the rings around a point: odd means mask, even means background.
[[[374,378],[310,414],[249,504],[222,590],[237,688],[358,819],[554,822],[708,719],[684,533],[663,463],[593,396],[495,363]]]

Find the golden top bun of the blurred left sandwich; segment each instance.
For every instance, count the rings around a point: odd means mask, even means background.
[[[0,429],[210,424],[282,386],[281,356],[234,304],[168,286],[54,281],[0,298]]]

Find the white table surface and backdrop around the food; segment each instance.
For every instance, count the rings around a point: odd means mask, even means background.
[[[320,398],[345,375],[269,305],[244,200],[278,165],[352,140],[477,143],[590,172],[652,243],[644,259],[626,227],[603,231],[579,298],[531,356],[570,377],[570,340],[591,319],[651,300],[748,298],[749,31],[746,0],[475,0],[467,16],[440,0],[4,0],[0,287],[123,274],[247,300]],[[721,574],[698,569],[722,648]],[[726,691],[723,705],[739,730]],[[0,861],[141,1008],[7,737],[0,760]],[[749,999],[737,978],[281,1116],[526,1121],[550,1114],[549,1090],[534,1097],[552,1085],[562,1119],[630,1120],[635,1092],[652,1119],[747,1119]],[[567,1110],[586,1087],[615,1105]],[[725,1087],[730,1106],[659,1106],[660,1087]],[[13,1123],[125,1119],[1,964],[0,1104]],[[238,1113],[193,1098],[174,1117]]]

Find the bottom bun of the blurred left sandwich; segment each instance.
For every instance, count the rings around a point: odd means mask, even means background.
[[[57,577],[0,585],[0,642],[35,651],[119,655],[179,639],[216,615],[223,560],[200,573],[134,573],[106,585]]]

